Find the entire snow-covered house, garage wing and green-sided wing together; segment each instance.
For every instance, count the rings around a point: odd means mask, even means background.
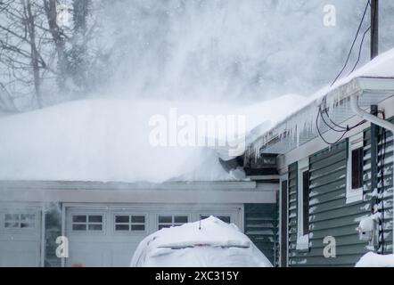
[[[393,66],[394,51],[383,53],[308,102],[258,106],[267,117],[234,159],[150,147],[146,116],[168,110],[152,102],[1,118],[0,265],[127,266],[149,233],[209,215],[237,224],[279,266],[392,253]]]

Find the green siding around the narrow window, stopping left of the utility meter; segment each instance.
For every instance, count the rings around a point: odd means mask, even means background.
[[[289,167],[289,266],[353,266],[366,253],[357,225],[370,212],[369,201],[346,204],[348,142],[309,158],[309,250],[297,250],[297,164]],[[336,240],[336,257],[323,255],[324,237]]]

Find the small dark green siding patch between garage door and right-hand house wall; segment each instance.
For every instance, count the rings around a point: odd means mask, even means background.
[[[277,207],[276,204],[245,204],[245,234],[276,265]]]

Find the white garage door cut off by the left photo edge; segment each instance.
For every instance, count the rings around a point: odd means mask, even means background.
[[[39,208],[0,208],[0,266],[40,266]]]

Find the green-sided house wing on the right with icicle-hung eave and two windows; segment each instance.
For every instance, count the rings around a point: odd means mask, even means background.
[[[277,160],[279,265],[393,253],[393,67],[391,50],[250,143],[245,160]]]

